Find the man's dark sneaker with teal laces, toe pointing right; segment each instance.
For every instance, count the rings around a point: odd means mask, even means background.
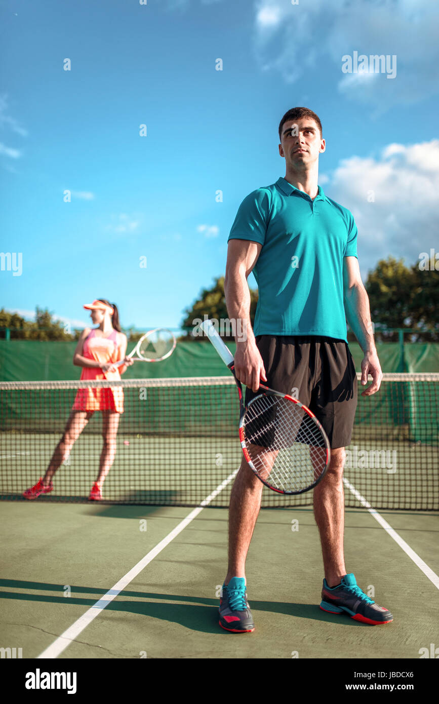
[[[378,626],[393,621],[393,615],[383,606],[378,606],[357,586],[354,575],[345,574],[341,584],[332,589],[323,580],[320,608],[331,614],[348,613],[355,621]]]

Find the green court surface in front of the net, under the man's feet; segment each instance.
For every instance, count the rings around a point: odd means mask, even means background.
[[[78,620],[189,513],[179,507],[5,503],[4,642],[23,648],[23,658],[37,658],[53,646],[52,656],[59,658],[141,658],[144,653],[148,658],[291,658],[297,653],[367,659],[419,658],[420,648],[437,640],[437,585],[360,509],[345,517],[347,569],[364,591],[392,609],[393,623],[368,627],[322,612],[312,511],[275,509],[260,513],[248,557],[256,630],[242,636],[222,631],[217,608],[227,567],[227,512],[205,508],[105,609],[96,609],[84,630],[60,644],[59,636],[80,627]],[[420,560],[438,564],[437,513],[382,515]],[[414,600],[430,605],[416,618]]]

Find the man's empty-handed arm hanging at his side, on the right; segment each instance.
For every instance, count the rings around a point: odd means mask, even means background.
[[[363,386],[367,384],[368,374],[373,379],[371,385],[362,392],[362,396],[371,396],[378,391],[383,372],[376,354],[369,297],[361,280],[357,257],[343,258],[343,300],[346,320],[364,352],[361,382]]]

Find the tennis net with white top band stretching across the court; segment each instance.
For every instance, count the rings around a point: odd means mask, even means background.
[[[44,475],[75,399],[110,387],[122,394],[117,433],[94,413],[37,501],[87,501],[101,452],[114,462],[103,501],[151,505],[229,504],[241,462],[234,379],[130,379],[121,382],[2,382],[0,384],[0,496],[22,498]],[[439,509],[439,374],[386,374],[378,394],[359,402],[347,448],[345,504],[375,508]],[[77,430],[70,428],[70,441]],[[106,436],[106,441],[103,439]],[[65,447],[65,446],[64,446]],[[23,501],[25,499],[23,498]],[[312,504],[312,491],[282,496],[264,488],[262,507]]]

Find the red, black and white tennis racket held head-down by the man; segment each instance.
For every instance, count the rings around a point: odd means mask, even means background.
[[[234,375],[239,396],[239,439],[256,476],[279,494],[303,494],[322,481],[331,458],[329,441],[312,411],[292,396],[260,385],[244,406],[234,358],[210,320],[201,323],[212,345]]]

